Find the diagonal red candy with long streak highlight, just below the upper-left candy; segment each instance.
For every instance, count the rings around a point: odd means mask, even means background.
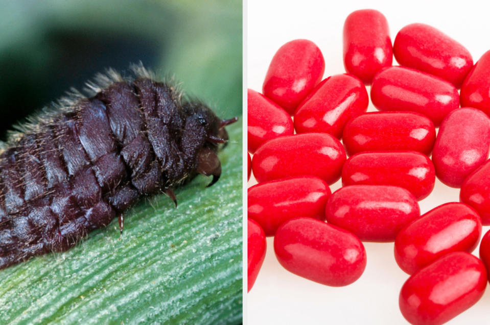
[[[369,98],[362,82],[336,74],[319,83],[294,114],[297,133],[325,132],[340,138],[345,123],[367,110]]]

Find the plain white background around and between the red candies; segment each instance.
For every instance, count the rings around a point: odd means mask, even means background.
[[[404,26],[423,22],[438,28],[469,49],[476,62],[490,49],[490,3],[486,1],[260,1],[248,0],[246,72],[248,88],[262,91],[262,83],[275,51],[284,43],[307,38],[325,58],[324,78],[344,73],[342,28],[354,10],[372,8],[388,20],[391,40]],[[396,62],[393,58],[393,64]],[[368,87],[369,92],[369,87]],[[376,109],[369,104],[368,111]],[[250,179],[248,185],[256,182]],[[332,192],[340,182],[331,186]],[[446,202],[459,201],[459,190],[438,180],[434,191],[419,202],[421,212]],[[485,233],[490,227],[483,227]],[[393,243],[364,243],[367,266],[362,277],[346,287],[334,288],[300,278],[277,262],[272,237],[246,305],[248,324],[406,324],[398,296],[408,275],[396,264]],[[478,248],[473,252],[478,256]],[[246,273],[245,273],[246,274]],[[490,324],[490,288],[471,309],[448,324]]]

